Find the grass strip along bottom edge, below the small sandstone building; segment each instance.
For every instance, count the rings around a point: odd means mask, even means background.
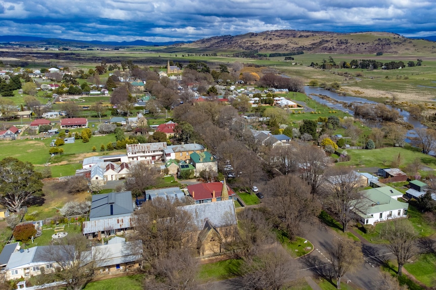
[[[129,275],[129,276],[104,279],[104,280],[90,282],[83,289],[84,290],[119,290],[119,289],[142,290],[143,278],[144,278],[143,275],[137,274],[137,275]]]

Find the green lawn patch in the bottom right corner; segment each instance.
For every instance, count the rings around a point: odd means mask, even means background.
[[[404,268],[416,279],[431,287],[436,281],[436,256],[423,254],[414,263],[404,265]]]

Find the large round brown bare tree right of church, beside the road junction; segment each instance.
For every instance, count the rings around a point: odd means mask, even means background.
[[[311,187],[296,176],[276,177],[266,188],[265,203],[277,226],[286,231],[290,240],[300,233],[302,223],[313,221],[321,211],[311,195]]]

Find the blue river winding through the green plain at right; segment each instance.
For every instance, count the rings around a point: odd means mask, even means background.
[[[353,115],[353,113],[354,113],[353,110],[344,107],[341,103],[332,103],[332,102],[330,102],[328,100],[322,99],[318,95],[325,95],[325,96],[327,96],[327,97],[329,97],[331,99],[334,99],[336,101],[346,102],[346,103],[357,102],[357,103],[377,104],[377,102],[375,102],[375,101],[370,101],[370,100],[367,100],[367,99],[364,99],[364,98],[352,97],[352,96],[341,96],[341,95],[338,95],[335,92],[331,92],[331,91],[328,91],[328,90],[323,89],[323,88],[316,88],[316,87],[305,86],[304,87],[304,91],[306,92],[306,95],[311,97],[313,100],[315,100],[315,101],[317,101],[317,102],[319,102],[321,104],[327,105],[327,106],[329,106],[329,107],[331,107],[333,109],[337,109],[337,110],[341,110],[341,111],[347,112],[347,113],[349,113],[351,115]],[[391,108],[391,106],[388,106],[388,107]],[[400,115],[403,117],[403,120],[405,122],[410,123],[414,127],[414,129],[427,128],[426,126],[422,125],[421,122],[419,122],[418,120],[413,118],[408,111],[401,110],[401,109],[398,109],[398,108],[395,108],[395,109],[399,111]],[[416,136],[416,133],[415,133],[414,129],[409,130],[407,132],[407,134],[406,134],[406,137],[414,137],[414,136]],[[409,138],[406,138],[405,141],[410,143],[410,139]]]

